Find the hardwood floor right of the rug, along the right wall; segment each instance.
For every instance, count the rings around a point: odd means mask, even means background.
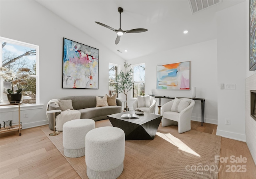
[[[216,135],[217,125],[204,123],[201,126],[200,122],[191,121],[191,129]],[[240,160],[241,156],[247,159],[246,163]],[[222,157],[228,157],[226,162]],[[256,179],[256,166],[245,142],[222,137],[220,159],[222,162],[219,162],[219,179]]]

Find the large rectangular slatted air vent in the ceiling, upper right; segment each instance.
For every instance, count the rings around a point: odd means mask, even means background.
[[[221,1],[222,0],[189,0],[189,4],[193,14],[210,6],[219,4]]]

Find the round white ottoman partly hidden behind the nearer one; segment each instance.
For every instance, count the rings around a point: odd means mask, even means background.
[[[95,129],[92,119],[74,119],[63,125],[64,155],[70,158],[85,155],[85,135]]]

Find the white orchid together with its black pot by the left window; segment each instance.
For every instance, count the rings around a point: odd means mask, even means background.
[[[10,103],[20,103],[22,98],[22,86],[28,85],[26,80],[28,80],[30,76],[30,69],[19,68],[18,72],[14,74],[13,70],[0,67],[0,76],[2,76],[6,82],[11,82],[12,89],[7,89],[8,101]],[[15,86],[17,86],[17,90],[14,91]]]

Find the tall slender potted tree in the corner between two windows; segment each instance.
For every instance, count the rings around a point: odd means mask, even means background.
[[[116,77],[116,83],[115,83],[115,90],[124,93],[127,101],[127,94],[128,91],[132,90],[133,82],[133,70],[132,68],[128,69],[131,66],[131,64],[127,64],[124,62],[124,68],[126,69],[125,72],[121,70],[121,72]],[[129,111],[128,105],[126,103],[126,111]]]

